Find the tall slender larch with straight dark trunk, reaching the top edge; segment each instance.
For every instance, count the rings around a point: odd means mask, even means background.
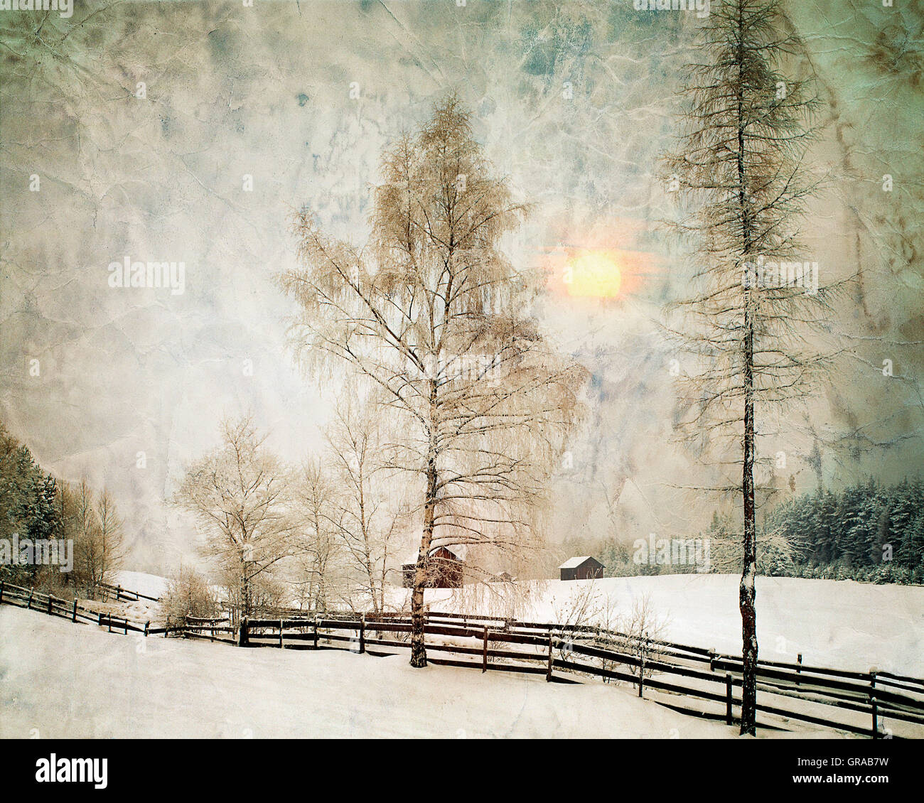
[[[686,313],[679,328],[698,355],[687,423],[700,445],[718,444],[718,459],[741,469],[724,490],[740,494],[744,518],[743,734],[756,728],[757,417],[766,428],[774,408],[814,393],[826,365],[805,337],[828,314],[827,291],[800,257],[796,227],[814,189],[803,156],[817,99],[810,75],[783,72],[801,52],[785,30],[776,0],[713,6],[705,60],[688,67],[686,132],[666,161],[697,203],[677,225],[695,236],[700,266],[697,295],[675,310]]]

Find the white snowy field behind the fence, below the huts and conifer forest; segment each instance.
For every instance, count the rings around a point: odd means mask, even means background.
[[[556,610],[566,610],[590,584],[600,603],[609,598],[617,613],[628,613],[635,599],[650,595],[652,607],[666,620],[665,639],[741,653],[738,578],[732,575],[533,581],[516,608],[449,590],[428,590],[426,601],[433,610],[555,621]],[[405,597],[406,590],[397,591],[394,602]],[[796,661],[801,652],[804,663],[859,672],[876,666],[924,677],[924,588],[918,586],[758,578],[757,630],[760,657],[768,661]]]

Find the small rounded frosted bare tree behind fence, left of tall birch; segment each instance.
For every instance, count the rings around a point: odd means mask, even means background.
[[[221,446],[187,468],[174,503],[196,517],[205,535],[203,556],[233,578],[237,612],[249,616],[254,583],[268,582],[292,552],[286,471],[266,449],[252,416],[223,420],[219,431]]]

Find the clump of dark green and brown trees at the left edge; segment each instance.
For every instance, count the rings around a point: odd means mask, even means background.
[[[55,479],[0,422],[0,579],[92,596],[124,554],[110,494]]]

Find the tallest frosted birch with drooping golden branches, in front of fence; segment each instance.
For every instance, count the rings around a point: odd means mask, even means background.
[[[529,541],[524,510],[562,448],[581,378],[539,331],[542,276],[499,249],[526,208],[493,175],[454,96],[386,149],[383,179],[367,249],[298,213],[302,267],[281,285],[300,307],[300,353],[342,359],[377,390],[394,427],[390,465],[419,478],[411,665],[425,666],[432,549]]]

